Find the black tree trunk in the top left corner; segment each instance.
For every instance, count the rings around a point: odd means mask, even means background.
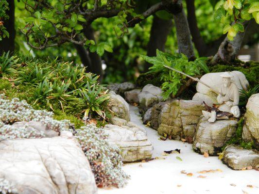
[[[8,0],[8,4],[9,10],[6,14],[9,16],[9,19],[4,21],[4,26],[9,32],[9,38],[3,38],[0,42],[0,54],[2,52],[15,51],[15,1]]]

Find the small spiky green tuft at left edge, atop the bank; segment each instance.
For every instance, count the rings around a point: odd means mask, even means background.
[[[12,73],[14,72],[14,66],[16,65],[18,59],[17,56],[10,56],[9,51],[7,53],[3,53],[0,56],[0,75],[3,73]]]

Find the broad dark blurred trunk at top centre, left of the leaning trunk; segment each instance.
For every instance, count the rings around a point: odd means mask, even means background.
[[[165,43],[167,40],[168,34],[171,32],[173,26],[172,19],[165,20],[161,19],[158,16],[154,16],[153,23],[150,32],[150,38],[147,47],[147,55],[153,57],[156,55],[156,49],[164,51]],[[145,64],[145,71],[151,64]]]

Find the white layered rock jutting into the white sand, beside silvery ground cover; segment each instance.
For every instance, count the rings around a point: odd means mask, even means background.
[[[139,128],[132,122],[125,126],[105,125],[104,132],[107,141],[121,150],[123,162],[135,162],[152,157],[154,147],[147,139],[145,129]]]

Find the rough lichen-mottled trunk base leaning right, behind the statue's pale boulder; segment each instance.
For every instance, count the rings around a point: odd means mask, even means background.
[[[245,31],[247,28],[249,22],[245,21],[243,23],[245,27]],[[212,64],[217,63],[218,61],[223,62],[231,62],[235,60],[241,46],[242,46],[242,40],[244,37],[244,32],[238,32],[237,35],[234,37],[233,41],[228,40],[227,37],[225,37],[224,41],[221,43],[218,52],[215,54],[215,56],[212,59]]]

